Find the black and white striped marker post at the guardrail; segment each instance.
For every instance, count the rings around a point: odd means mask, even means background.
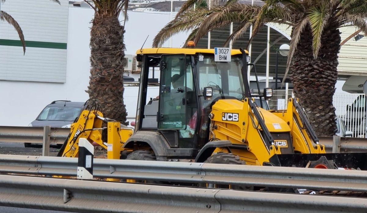
[[[93,179],[93,154],[93,145],[86,138],[80,138],[77,171],[78,179]]]

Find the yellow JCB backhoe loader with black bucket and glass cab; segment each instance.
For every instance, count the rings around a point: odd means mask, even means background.
[[[59,156],[77,156],[84,137],[106,148],[110,159],[367,170],[366,153],[325,153],[297,99],[287,100],[286,110],[263,109],[272,89],[260,92],[258,85],[260,94],[251,92],[247,67],[257,73],[242,49],[141,49],[137,60],[134,133],[90,107],[71,126]],[[148,97],[158,72],[159,96]]]

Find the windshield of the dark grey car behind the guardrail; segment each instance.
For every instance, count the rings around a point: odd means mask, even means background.
[[[81,108],[77,107],[46,107],[37,117],[38,121],[74,121]]]

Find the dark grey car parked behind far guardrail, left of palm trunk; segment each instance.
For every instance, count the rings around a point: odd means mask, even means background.
[[[84,102],[71,102],[69,100],[55,100],[48,104],[37,118],[28,126],[51,126],[70,128],[84,107]],[[25,143],[25,147],[31,147]]]

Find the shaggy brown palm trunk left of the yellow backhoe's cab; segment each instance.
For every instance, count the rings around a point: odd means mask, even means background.
[[[89,98],[97,99],[104,117],[126,122],[123,100],[124,28],[117,17],[95,14],[91,28]]]

